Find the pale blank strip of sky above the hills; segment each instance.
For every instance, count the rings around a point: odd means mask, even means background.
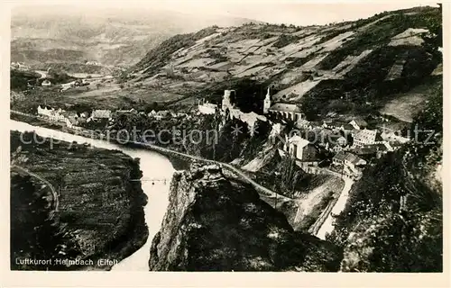
[[[364,2],[364,3],[363,3]],[[184,14],[228,15],[244,17],[268,23],[286,23],[295,25],[327,24],[353,21],[367,18],[383,11],[410,8],[419,5],[436,5],[434,1],[357,1],[342,3],[337,1],[301,1],[301,0],[65,0],[65,1],[21,1],[14,4],[75,4],[99,10],[106,6],[112,8],[140,10],[170,10]]]

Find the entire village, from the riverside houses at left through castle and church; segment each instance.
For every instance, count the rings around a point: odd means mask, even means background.
[[[272,103],[270,87],[263,101],[262,113],[242,112],[232,103],[235,93],[235,90],[225,90],[220,107],[218,104],[199,100],[197,109],[191,112],[152,110],[145,113],[135,109],[70,112],[39,105],[37,114],[49,121],[65,123],[68,128],[74,130],[85,129],[90,126],[89,123],[95,123],[97,127],[111,127],[121,114],[140,114],[155,121],[189,120],[202,115],[217,115],[222,120],[218,129],[221,129],[226,121],[235,119],[248,126],[251,137],[254,136],[259,121],[267,122],[272,126],[269,140],[274,142],[283,134],[283,145],[279,149],[281,157],[294,159],[296,165],[307,173],[318,173],[318,166],[326,164],[328,171],[354,180],[362,176],[364,166],[370,164],[373,158],[380,158],[410,140],[394,130],[384,127],[371,128],[362,118],[354,118],[348,122],[330,119],[307,121],[299,105]],[[288,126],[294,130],[287,130]]]

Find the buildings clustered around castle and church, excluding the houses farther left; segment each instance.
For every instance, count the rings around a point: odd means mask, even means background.
[[[393,151],[398,144],[410,139],[396,135],[392,130],[372,130],[368,123],[360,118],[350,121],[326,119],[321,122],[309,122],[301,112],[299,105],[292,103],[272,103],[270,88],[263,101],[263,113],[244,113],[231,103],[234,90],[225,90],[222,106],[214,103],[198,102],[198,112],[202,114],[220,113],[223,121],[239,119],[249,125],[251,131],[256,121],[269,121],[265,115],[277,115],[281,121],[272,121],[270,139],[274,139],[283,130],[283,121],[292,121],[297,128],[306,131],[305,136],[298,134],[290,138],[285,136],[281,155],[296,159],[301,168],[318,166],[321,152],[332,154],[330,168],[343,175],[359,178],[365,165],[373,157]],[[331,115],[332,116],[332,115]],[[274,117],[272,117],[274,119]],[[323,153],[324,154],[324,153]]]

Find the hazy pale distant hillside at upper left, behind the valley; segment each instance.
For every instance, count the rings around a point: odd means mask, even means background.
[[[18,6],[12,15],[11,60],[28,65],[97,61],[102,66],[126,67],[175,34],[247,22],[145,9]]]

